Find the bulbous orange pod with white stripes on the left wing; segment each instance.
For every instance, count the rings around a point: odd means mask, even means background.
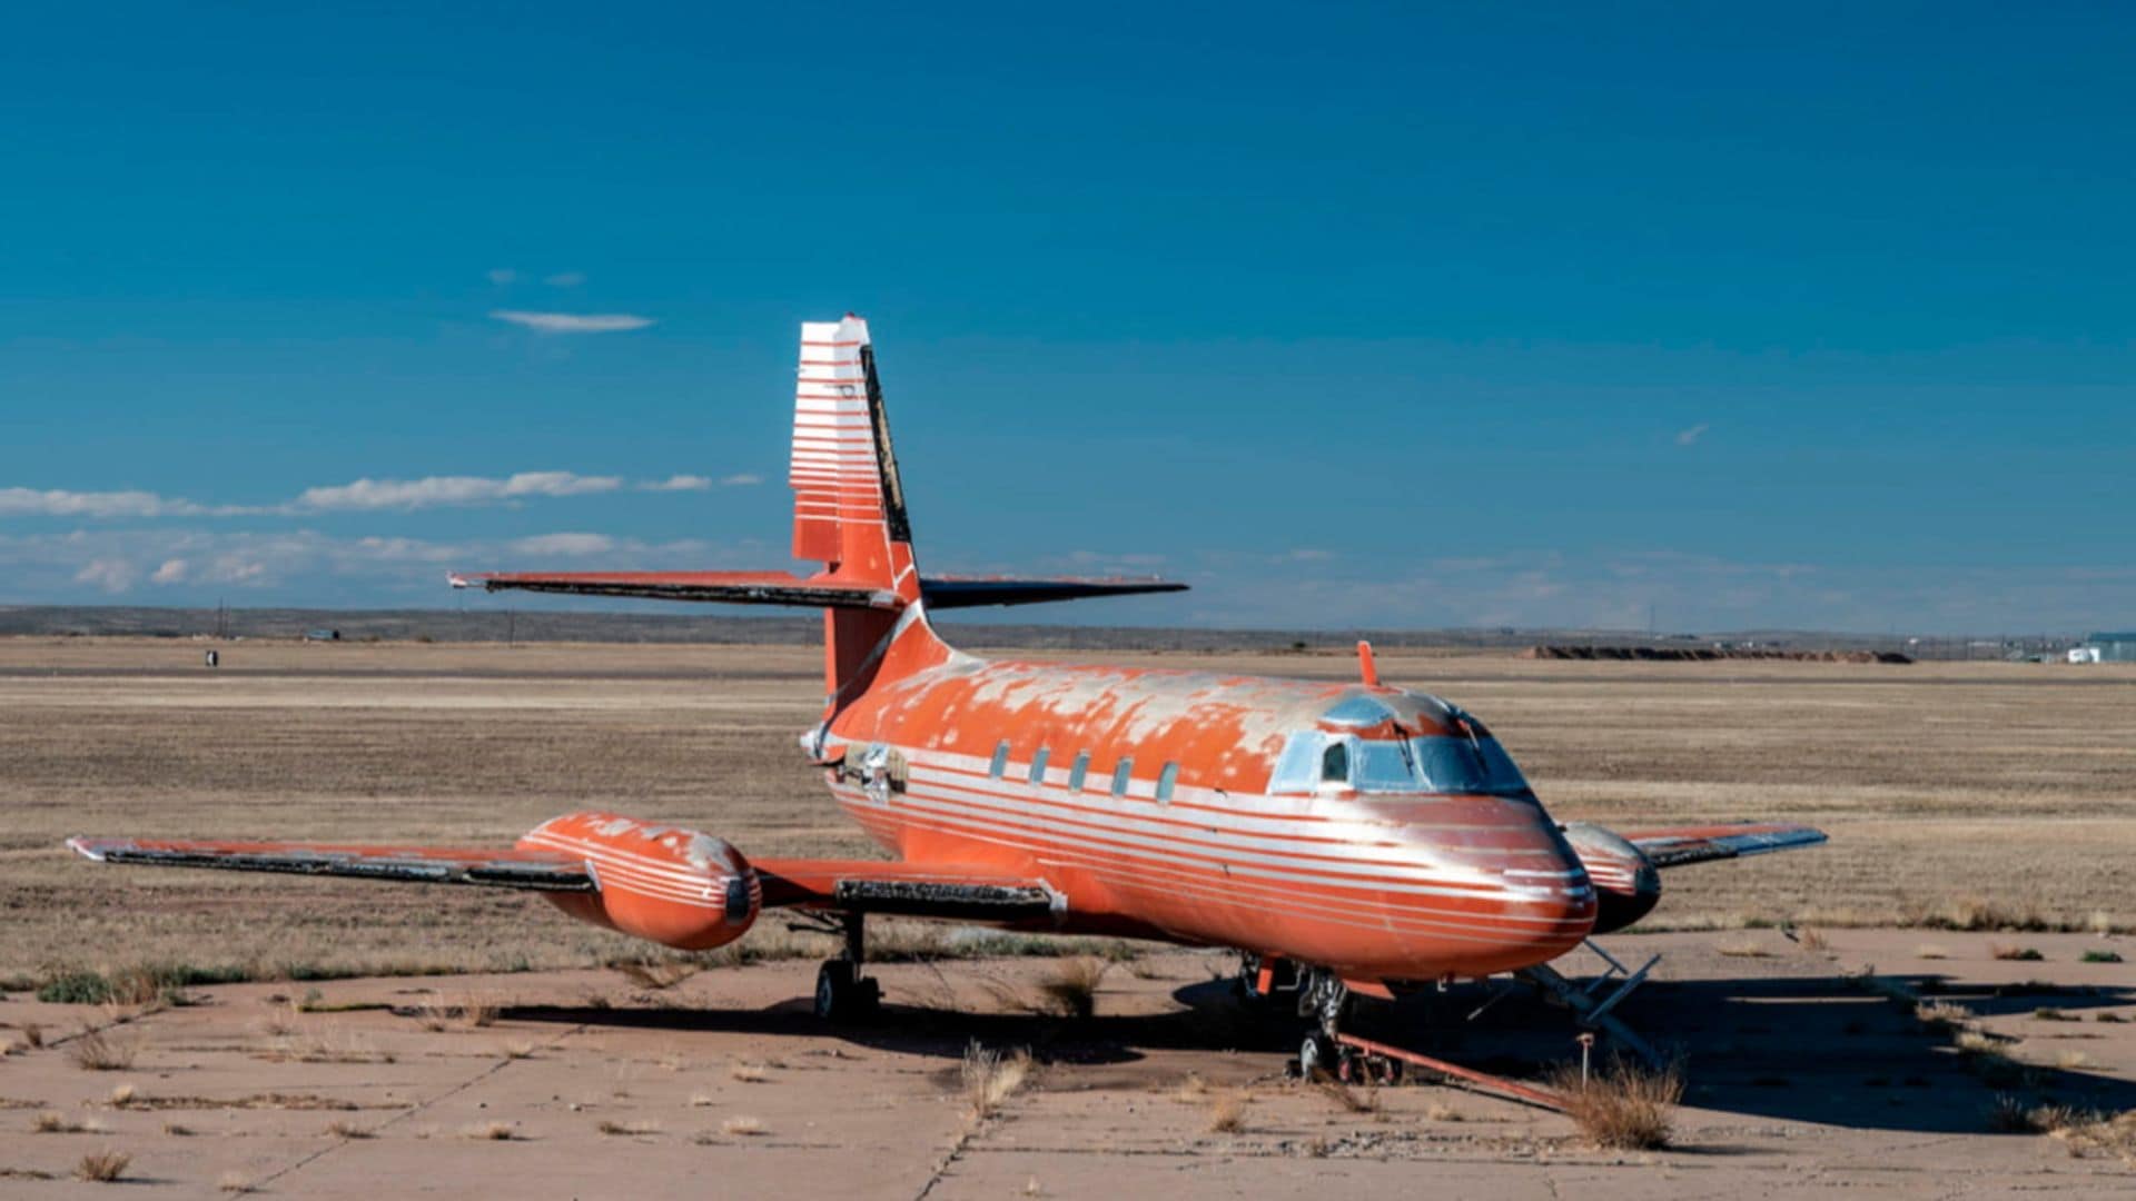
[[[681,951],[741,938],[765,900],[741,851],[694,829],[583,812],[536,825],[519,848],[562,851],[592,865],[598,891],[547,893],[564,913]]]

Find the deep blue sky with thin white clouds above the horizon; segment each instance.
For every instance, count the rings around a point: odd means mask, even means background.
[[[857,310],[1057,620],[2136,622],[2130,11],[295,9],[0,41],[0,603],[786,566]]]

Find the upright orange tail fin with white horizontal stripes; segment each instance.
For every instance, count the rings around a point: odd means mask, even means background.
[[[867,323],[850,312],[844,321],[801,325],[788,483],[795,558],[820,560],[831,581],[895,596],[893,607],[824,609],[824,688],[833,705],[886,669],[901,675],[940,662],[948,648],[927,626],[921,605],[876,348]]]

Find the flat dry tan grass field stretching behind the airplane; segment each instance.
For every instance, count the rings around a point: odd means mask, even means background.
[[[812,648],[0,641],[0,979],[517,970],[632,947],[521,895],[98,870],[73,833],[508,846],[609,808],[758,855],[874,855],[801,761]],[[1346,677],[1341,656],[1109,656]],[[1828,846],[1692,868],[1645,930],[2136,927],[2136,669],[1529,662],[1384,654],[1480,714],[1551,812],[1807,821]],[[769,923],[767,923],[769,925]],[[773,934],[763,930],[752,938]]]

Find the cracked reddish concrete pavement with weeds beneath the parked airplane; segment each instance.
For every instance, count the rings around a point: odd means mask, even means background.
[[[1903,932],[1636,940],[1666,957],[1623,1013],[1690,1079],[1662,1152],[1596,1152],[1557,1113],[1418,1077],[1286,1079],[1277,1039],[1215,979],[1230,960],[1194,951],[1111,968],[1089,1019],[1017,1011],[1059,970],[1047,960],[884,966],[867,1028],[807,1013],[803,962],[662,992],[600,970],[218,985],[120,1026],[13,998],[0,1036],[38,1026],[43,1047],[0,1060],[0,1192],[94,1192],[68,1175],[111,1150],[130,1197],[2127,1197],[2127,1152],[1991,1133],[1991,1113],[1999,1096],[2136,1107],[2136,981],[2078,962],[2136,940],[2029,936],[2042,962],[1989,942],[1952,934],[1920,960]],[[1856,979],[1871,964],[1963,1007],[1963,1030]],[[1412,998],[1361,1026],[1502,1071],[1576,1054],[1564,1013],[1514,996],[1465,1021],[1482,1000]],[[126,1064],[79,1066],[85,1026]],[[974,1041],[1036,1056],[987,1118],[961,1079]]]

